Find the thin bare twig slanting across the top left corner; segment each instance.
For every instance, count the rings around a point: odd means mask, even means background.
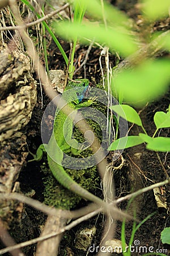
[[[55,14],[57,13],[60,13],[61,11],[65,10],[67,7],[70,6],[70,3],[66,3],[66,5],[62,6],[61,8],[58,8],[57,10],[55,11],[52,11],[52,13],[49,13],[49,14],[46,14],[45,16],[43,16],[42,18],[40,19],[37,19],[35,20],[34,22],[30,22],[30,23],[27,23],[27,24],[22,24],[22,26],[8,26],[8,27],[0,27],[0,31],[6,31],[6,30],[20,30],[22,29],[23,27],[24,28],[27,28],[27,27],[31,27],[31,26],[34,26],[36,24],[39,24],[41,23],[42,21],[44,21],[45,19],[49,19],[51,18],[52,16],[54,16]]]

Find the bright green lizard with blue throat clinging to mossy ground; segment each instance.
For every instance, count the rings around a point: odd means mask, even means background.
[[[84,92],[86,92],[86,89],[88,88],[89,81],[87,79],[78,80],[76,82],[69,82],[69,84],[66,86],[62,98],[67,104],[77,110],[83,107],[90,106],[94,103],[94,99],[90,99],[86,102],[81,102]],[[80,88],[78,93],[76,91],[71,90],[71,93],[67,93],[67,90],[73,89],[73,88]],[[83,88],[81,90],[81,88]],[[74,98],[74,101],[71,102],[71,100]],[[76,100],[75,100],[76,98]],[[58,111],[58,110],[57,110]],[[67,127],[67,133],[63,134],[63,125],[66,125]],[[80,187],[78,183],[76,183],[71,177],[65,172],[64,168],[62,167],[62,160],[63,160],[63,152],[69,153],[71,152],[74,155],[79,155],[81,150],[78,150],[75,146],[78,142],[75,141],[75,139],[72,138],[73,135],[73,120],[70,118],[67,118],[67,115],[60,111],[56,118],[54,119],[54,126],[53,126],[53,133],[50,137],[50,140],[48,144],[41,144],[39,148],[37,149],[37,152],[35,155],[33,155],[32,160],[40,161],[42,159],[43,152],[47,151],[48,155],[48,164],[50,171],[52,171],[53,176],[56,178],[56,180],[63,185],[63,187],[69,189],[70,191],[78,194],[81,197],[84,197],[87,200],[90,200],[94,202],[95,204],[99,205],[99,207],[105,208],[105,212],[109,210],[114,210],[114,213],[118,213],[120,216],[123,215],[126,216],[125,213],[121,213],[117,208],[115,207],[108,207],[106,203],[104,203],[103,200],[101,200],[99,197],[93,195],[92,193],[88,192],[86,189]],[[69,144],[67,142],[70,142]],[[56,142],[58,144],[58,147],[56,147]],[[74,144],[74,147],[71,147],[70,144]],[[60,150],[59,150],[60,149]],[[53,159],[57,159],[54,161]],[[31,160],[31,161],[32,161]],[[117,215],[118,215],[117,214]]]

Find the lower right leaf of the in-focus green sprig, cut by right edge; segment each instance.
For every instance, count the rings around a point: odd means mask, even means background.
[[[146,148],[149,150],[167,152],[170,151],[170,138],[167,137],[157,137],[152,138],[152,141],[148,142]]]

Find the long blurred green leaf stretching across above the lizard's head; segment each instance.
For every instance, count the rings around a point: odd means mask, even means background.
[[[124,27],[108,27],[107,29],[99,24],[87,23],[69,23],[56,22],[54,23],[56,33],[63,39],[74,39],[78,36],[82,43],[89,43],[86,38],[101,44],[106,44],[113,51],[120,51],[124,56],[128,56],[137,50],[133,36],[128,34],[128,30]],[[126,46],[125,46],[126,42]]]

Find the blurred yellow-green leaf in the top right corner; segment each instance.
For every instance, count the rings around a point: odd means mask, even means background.
[[[169,0],[143,0],[143,12],[150,19],[168,16]]]

